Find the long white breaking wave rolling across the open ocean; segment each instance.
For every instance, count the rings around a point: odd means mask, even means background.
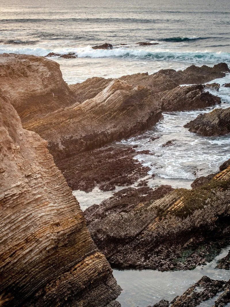
[[[17,45],[17,44],[15,44]],[[153,59],[153,60],[175,60],[175,61],[194,61],[194,62],[227,62],[230,63],[230,52],[209,52],[209,51],[196,51],[196,52],[173,52],[173,51],[159,51],[149,49],[129,49],[129,48],[115,48],[112,50],[94,50],[90,46],[82,48],[63,48],[63,49],[44,49],[44,48],[0,48],[0,53],[21,53],[33,54],[37,56],[46,56],[49,52],[59,54],[66,54],[75,52],[78,58],[106,58],[106,57],[130,57],[133,59]]]

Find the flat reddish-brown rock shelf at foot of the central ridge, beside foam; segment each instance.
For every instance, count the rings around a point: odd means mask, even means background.
[[[102,191],[111,191],[116,185],[132,185],[148,175],[150,168],[134,159],[136,155],[130,147],[108,147],[79,153],[56,165],[73,190],[90,192],[98,186]]]

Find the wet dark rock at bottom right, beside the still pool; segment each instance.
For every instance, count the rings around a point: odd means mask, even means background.
[[[185,291],[171,307],[195,307],[207,301],[224,289],[226,282],[203,276],[198,282]],[[224,306],[224,305],[223,305]]]

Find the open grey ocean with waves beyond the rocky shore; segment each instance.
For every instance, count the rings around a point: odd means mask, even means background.
[[[159,42],[140,47],[138,42]],[[113,50],[93,50],[108,42]],[[127,45],[121,45],[127,44]],[[229,0],[19,1],[0,0],[0,53],[45,56],[76,52],[60,64],[68,84],[230,64]]]

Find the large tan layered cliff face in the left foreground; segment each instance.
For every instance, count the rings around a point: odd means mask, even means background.
[[[4,306],[120,306],[121,289],[46,149],[0,91],[0,293]]]

